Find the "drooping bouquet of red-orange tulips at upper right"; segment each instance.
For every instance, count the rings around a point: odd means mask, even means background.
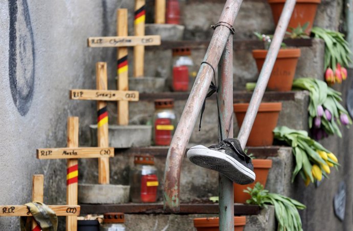
[[[321,38],[325,42],[325,80],[328,84],[342,83],[347,78],[347,70],[344,66],[351,63],[348,43],[342,33],[319,27],[313,27],[315,38]]]

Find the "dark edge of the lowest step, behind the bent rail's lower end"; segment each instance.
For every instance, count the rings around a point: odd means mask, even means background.
[[[122,212],[126,214],[163,214],[163,203],[80,204],[81,214]],[[260,207],[234,204],[234,215],[257,215]],[[218,203],[181,203],[179,214],[218,214]]]

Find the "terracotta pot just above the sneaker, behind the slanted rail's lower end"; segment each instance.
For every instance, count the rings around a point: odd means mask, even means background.
[[[244,120],[249,104],[234,104],[234,112],[238,126]],[[282,109],[281,102],[262,102],[255,117],[247,146],[269,146],[273,142],[273,133],[277,125],[278,115]]]

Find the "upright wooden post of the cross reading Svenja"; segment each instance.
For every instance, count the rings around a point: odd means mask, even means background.
[[[97,90],[107,90],[106,63],[96,64]],[[105,101],[97,101],[97,127],[98,127],[98,147],[108,147],[108,112]],[[109,184],[109,158],[98,159],[98,183]]]

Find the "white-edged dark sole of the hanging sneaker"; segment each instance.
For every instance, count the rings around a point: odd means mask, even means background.
[[[239,185],[247,185],[255,181],[255,172],[220,151],[196,145],[188,150],[186,156],[193,164],[218,171]]]

